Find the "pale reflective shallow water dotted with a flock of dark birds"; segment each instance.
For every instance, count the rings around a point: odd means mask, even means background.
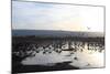
[[[105,45],[99,42],[43,41],[31,46],[34,51],[26,51],[32,54],[22,60],[23,65],[54,66],[70,62],[69,65],[79,68],[105,66]]]

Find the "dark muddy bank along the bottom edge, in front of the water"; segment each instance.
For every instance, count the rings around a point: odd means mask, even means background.
[[[18,65],[13,66],[12,73],[31,73],[31,72],[48,72],[48,71],[65,71],[65,70],[79,70],[79,67],[75,67],[69,65],[70,62],[56,63],[54,66],[46,65]]]

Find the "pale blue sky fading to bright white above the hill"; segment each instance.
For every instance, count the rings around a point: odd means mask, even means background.
[[[12,29],[103,32],[103,8],[12,1]]]

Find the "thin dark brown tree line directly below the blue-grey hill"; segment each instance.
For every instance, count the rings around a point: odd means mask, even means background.
[[[74,40],[82,42],[102,42],[105,43],[105,38],[84,38],[84,36],[36,36],[36,35],[26,35],[26,36],[12,36],[12,40],[20,41],[36,41],[36,40]]]

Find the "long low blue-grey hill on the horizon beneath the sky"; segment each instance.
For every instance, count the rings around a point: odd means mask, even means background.
[[[54,31],[54,30],[12,30],[13,36],[82,36],[82,38],[103,38],[101,32],[77,32],[77,31]]]

